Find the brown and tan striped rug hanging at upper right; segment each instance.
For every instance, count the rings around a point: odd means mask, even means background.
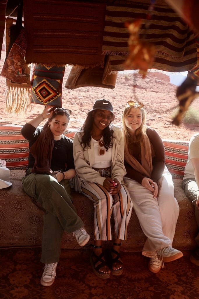
[[[146,1],[145,1],[146,2]],[[143,19],[139,30],[141,40],[155,45],[155,62],[152,68],[180,72],[192,69],[197,63],[197,51],[194,33],[189,26],[169,6],[157,5],[152,11],[152,19],[145,29],[149,3],[107,5],[103,54],[110,55],[112,70],[122,71],[126,55],[129,55],[128,29],[124,23],[137,18]],[[146,39],[143,39],[143,35]]]

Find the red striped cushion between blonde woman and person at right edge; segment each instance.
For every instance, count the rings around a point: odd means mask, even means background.
[[[165,164],[173,179],[183,179],[187,162],[189,142],[163,139]]]

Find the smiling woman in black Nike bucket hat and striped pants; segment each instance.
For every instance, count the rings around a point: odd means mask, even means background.
[[[110,123],[115,119],[108,100],[97,100],[88,112],[80,132],[75,134],[73,156],[79,177],[80,191],[94,205],[94,245],[90,262],[94,273],[109,278],[121,275],[121,240],[127,238],[127,225],[132,202],[123,183],[124,139],[122,132]],[[111,249],[111,271],[104,260],[102,241],[111,240],[110,217],[115,220],[114,243]]]

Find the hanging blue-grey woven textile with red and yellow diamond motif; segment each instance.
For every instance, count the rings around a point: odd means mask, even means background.
[[[36,64],[31,80],[32,103],[61,107],[65,66]]]

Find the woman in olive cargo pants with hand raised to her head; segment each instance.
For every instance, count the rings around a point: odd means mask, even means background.
[[[86,245],[90,238],[70,195],[69,179],[75,176],[72,140],[63,135],[70,112],[45,107],[41,115],[21,129],[30,147],[28,169],[22,179],[24,190],[46,210],[41,253],[41,262],[45,263],[43,286],[51,286],[55,280],[63,231],[73,232],[80,246]],[[41,121],[47,118],[43,129],[39,128]]]

